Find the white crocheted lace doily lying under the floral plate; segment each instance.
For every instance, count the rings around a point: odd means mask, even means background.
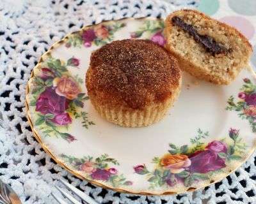
[[[0,1],[0,179],[23,203],[56,203],[51,192],[64,178],[100,203],[256,203],[254,154],[236,173],[195,193],[134,196],[93,186],[63,170],[36,142],[26,119],[26,84],[40,56],[65,34],[88,24],[124,17],[166,17],[175,0],[1,0]],[[3,120],[1,120],[3,119]]]

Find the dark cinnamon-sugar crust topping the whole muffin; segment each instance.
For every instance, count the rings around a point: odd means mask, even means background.
[[[102,103],[143,108],[165,101],[179,86],[177,60],[150,40],[113,41],[91,55],[88,94]],[[124,105],[124,104],[123,104]]]

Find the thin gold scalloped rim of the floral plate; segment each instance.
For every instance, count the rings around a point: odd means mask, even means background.
[[[82,27],[81,29],[79,29],[78,31],[72,32],[67,34],[65,37],[63,37],[60,41],[57,41],[56,43],[54,43],[49,50],[47,50],[39,59],[38,63],[36,64],[36,66],[32,69],[31,71],[31,75],[30,78],[33,77],[34,73],[34,69],[37,68],[38,66],[40,66],[40,64],[42,62],[44,62],[45,57],[47,57],[47,55],[51,54],[51,50],[59,47],[60,45],[62,45],[68,38],[69,36],[71,36],[72,34],[75,33],[79,33],[81,31],[83,31],[84,29],[89,29],[90,27],[94,27],[97,25],[100,25],[102,23],[106,23],[106,22],[115,22],[115,21],[119,21],[119,20],[163,20],[162,18],[154,18],[154,17],[141,17],[141,18],[120,18],[118,20],[104,20],[102,22],[100,22],[99,24],[93,24],[93,25],[86,25],[84,27]],[[30,79],[29,78],[29,79]],[[140,194],[140,195],[147,195],[147,196],[164,196],[164,195],[170,195],[170,194],[181,194],[181,193],[188,193],[188,192],[192,192],[192,191],[196,191],[198,189],[202,189],[204,187],[210,186],[212,184],[215,184],[217,182],[220,182],[221,180],[225,179],[226,177],[228,177],[228,175],[230,175],[231,173],[233,173],[234,171],[236,171],[239,167],[242,166],[242,164],[249,158],[252,156],[253,152],[256,150],[256,142],[253,144],[252,149],[250,150],[250,152],[248,152],[247,156],[244,158],[243,161],[241,161],[241,163],[237,164],[236,168],[234,168],[233,170],[230,170],[228,173],[226,173],[225,175],[223,175],[220,179],[217,180],[210,180],[210,184],[204,184],[202,186],[199,187],[188,187],[188,189],[186,189],[186,191],[179,191],[179,192],[173,192],[173,191],[166,191],[164,193],[148,193],[148,192],[132,192],[132,191],[127,191],[124,189],[120,189],[120,188],[113,188],[113,187],[109,187],[109,186],[105,186],[104,184],[101,184],[99,182],[96,182],[95,180],[90,180],[86,177],[84,177],[83,175],[80,175],[79,173],[76,173],[74,170],[68,168],[68,166],[66,166],[65,164],[63,164],[57,157],[54,156],[54,154],[52,154],[52,152],[47,149],[47,147],[44,145],[44,143],[41,141],[40,136],[38,136],[38,134],[36,133],[36,130],[32,124],[31,121],[31,117],[29,115],[29,106],[28,106],[28,93],[29,93],[29,82],[26,86],[26,100],[25,100],[25,108],[26,108],[26,117],[28,119],[28,123],[29,126],[31,127],[31,130],[33,132],[33,135],[35,136],[36,140],[38,141],[38,143],[40,143],[40,145],[42,146],[42,148],[44,149],[45,152],[47,152],[47,154],[49,154],[49,156],[51,156],[51,158],[57,163],[59,164],[62,168],[64,168],[65,170],[69,171],[70,173],[72,173],[72,175],[76,176],[79,179],[82,180],[86,180],[87,182],[90,182],[91,184],[94,184],[95,186],[99,186],[99,187],[103,187],[105,189],[110,189],[113,191],[117,191],[119,193],[129,193],[129,194]]]

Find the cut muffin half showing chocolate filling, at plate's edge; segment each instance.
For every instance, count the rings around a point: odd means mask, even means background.
[[[229,84],[248,68],[252,45],[234,27],[195,10],[174,11],[165,27],[166,48],[195,77]]]

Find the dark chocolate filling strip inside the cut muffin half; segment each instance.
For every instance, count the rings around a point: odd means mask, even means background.
[[[201,34],[198,34],[196,29],[192,25],[186,24],[186,22],[184,22],[184,20],[182,20],[181,18],[173,17],[172,24],[179,26],[183,31],[193,36],[195,41],[203,45],[206,51],[211,52],[212,55],[227,54],[227,48],[216,43],[216,41],[214,41],[210,36],[203,36]]]

